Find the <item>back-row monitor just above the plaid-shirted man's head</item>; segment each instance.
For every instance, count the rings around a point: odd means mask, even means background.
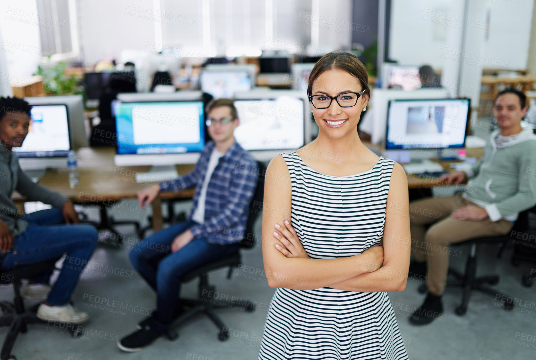
[[[200,76],[201,90],[211,94],[215,99],[232,98],[237,91],[251,90],[252,83],[249,72],[204,70]]]

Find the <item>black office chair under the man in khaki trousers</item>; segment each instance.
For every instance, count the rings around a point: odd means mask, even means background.
[[[456,310],[455,310],[456,314],[458,314],[459,316],[462,316],[467,312],[467,306],[469,304],[469,300],[471,298],[471,292],[473,290],[478,290],[480,292],[484,292],[485,294],[492,295],[496,299],[500,298],[501,301],[504,303],[505,310],[513,310],[514,303],[513,303],[512,296],[486,286],[486,284],[490,284],[490,285],[498,284],[499,278],[500,278],[498,274],[477,277],[477,245],[482,244],[482,243],[502,244],[503,246],[501,247],[501,250],[497,254],[497,258],[498,258],[501,256],[501,253],[505,247],[505,244],[511,241],[511,238],[510,238],[511,234],[512,233],[515,234],[514,231],[525,231],[527,227],[528,227],[528,210],[519,213],[518,219],[513,224],[512,229],[505,235],[472,238],[472,239],[468,239],[460,243],[452,244],[452,246],[459,246],[459,245],[465,245],[465,244],[471,245],[470,254],[469,254],[469,257],[467,258],[467,262],[465,265],[465,273],[462,274],[453,268],[449,268],[449,275],[452,275],[453,277],[455,277],[455,279],[448,280],[446,286],[462,288],[461,304],[458,307],[456,307]],[[422,284],[419,287],[419,292],[423,294],[426,291],[427,291],[426,284]]]

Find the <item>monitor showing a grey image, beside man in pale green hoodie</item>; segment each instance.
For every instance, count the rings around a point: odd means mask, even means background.
[[[464,147],[469,99],[389,101],[386,149]]]

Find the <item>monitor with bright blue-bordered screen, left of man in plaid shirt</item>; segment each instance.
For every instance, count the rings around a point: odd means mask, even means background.
[[[202,101],[116,102],[117,166],[196,163],[205,146]]]

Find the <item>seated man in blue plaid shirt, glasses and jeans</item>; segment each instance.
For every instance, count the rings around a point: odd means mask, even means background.
[[[140,322],[140,330],[117,343],[121,350],[142,350],[162,337],[183,311],[177,306],[181,277],[234,253],[244,236],[257,186],[257,162],[233,136],[239,125],[233,100],[213,101],[208,115],[213,141],[207,143],[193,171],[138,193],[144,206],[160,191],[196,187],[190,220],[156,232],[130,252],[133,267],[157,292],[157,310]]]

